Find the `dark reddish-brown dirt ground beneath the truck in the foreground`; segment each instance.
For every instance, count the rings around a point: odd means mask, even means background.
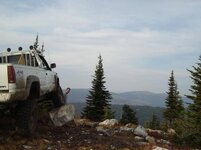
[[[39,122],[33,137],[16,130],[10,118],[0,119],[0,150],[149,150],[152,145],[139,145],[132,135],[106,135],[93,127],[70,122],[55,127],[50,121]]]

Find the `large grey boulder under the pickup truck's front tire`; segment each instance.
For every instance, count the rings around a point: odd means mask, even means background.
[[[74,119],[74,105],[63,105],[58,109],[49,112],[50,118],[55,126],[62,126]]]

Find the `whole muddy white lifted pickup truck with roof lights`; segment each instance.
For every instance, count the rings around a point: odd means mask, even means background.
[[[0,53],[0,106],[16,114],[18,127],[25,133],[35,130],[39,102],[49,100],[55,107],[65,104],[59,78],[52,71],[55,67],[33,46]]]

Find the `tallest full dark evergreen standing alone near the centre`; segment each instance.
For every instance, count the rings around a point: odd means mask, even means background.
[[[98,65],[96,66],[95,75],[92,80],[92,87],[89,95],[86,97],[86,107],[82,116],[93,121],[102,121],[105,115],[105,108],[111,111],[111,94],[105,87],[105,77],[103,70],[103,60],[99,55]],[[112,113],[112,112],[111,112]]]

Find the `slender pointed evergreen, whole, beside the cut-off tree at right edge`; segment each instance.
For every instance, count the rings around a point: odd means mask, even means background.
[[[165,101],[166,109],[164,111],[164,118],[167,121],[168,127],[172,128],[174,126],[175,120],[180,117],[182,110],[184,110],[183,101],[179,95],[173,71],[171,72],[168,85],[169,90],[167,92],[168,96]]]

